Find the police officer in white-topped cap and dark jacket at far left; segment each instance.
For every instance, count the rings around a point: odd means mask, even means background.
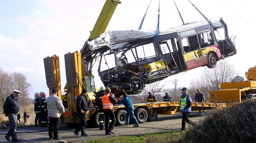
[[[13,90],[13,93],[7,97],[7,99],[4,102],[4,114],[9,119],[10,128],[8,133],[5,136],[5,139],[7,141],[21,141],[20,139],[17,139],[17,132],[16,132],[16,124],[17,124],[17,113],[20,110],[20,105],[18,103],[17,97],[20,96],[20,93],[22,93],[19,90]],[[11,137],[11,139],[10,139]]]

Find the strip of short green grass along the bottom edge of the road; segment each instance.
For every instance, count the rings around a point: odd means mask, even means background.
[[[95,139],[87,141],[87,143],[176,143],[184,133],[179,130],[169,130],[164,132],[156,132],[154,134],[120,136],[104,139]]]

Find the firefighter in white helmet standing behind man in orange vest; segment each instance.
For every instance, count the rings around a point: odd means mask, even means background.
[[[100,86],[100,93],[97,95],[95,99],[95,110],[99,112],[99,123],[100,123],[100,130],[103,130],[104,128],[104,111],[102,106],[102,97],[106,94],[105,92],[106,88],[105,86]]]

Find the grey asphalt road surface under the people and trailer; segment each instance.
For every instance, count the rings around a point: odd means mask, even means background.
[[[180,130],[181,128],[181,118],[182,114],[175,115],[158,115],[158,118],[154,122],[145,122],[140,124],[139,127],[132,127],[134,124],[130,122],[129,126],[115,126],[113,135],[105,135],[105,130],[99,130],[99,128],[86,128],[86,134],[89,134],[90,137],[75,137],[73,134],[76,127],[67,126],[65,123],[62,123],[59,128],[59,137],[63,138],[62,140],[49,140],[48,128],[42,127],[25,127],[17,128],[17,137],[22,140],[20,143],[59,143],[67,141],[76,141],[78,140],[89,141],[93,139],[102,139],[107,137],[117,137],[117,136],[129,136],[129,135],[143,135],[147,133],[161,132],[165,130]],[[203,117],[200,116],[197,112],[191,112],[189,114],[190,120],[200,123]],[[189,128],[187,124],[186,128]],[[9,129],[0,130],[0,143],[9,143],[4,136]],[[27,140],[27,141],[25,141]]]

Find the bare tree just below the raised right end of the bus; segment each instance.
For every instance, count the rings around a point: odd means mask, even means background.
[[[232,63],[227,60],[221,60],[213,69],[204,67],[201,78],[204,85],[208,87],[208,92],[210,92],[210,90],[220,88],[221,82],[230,82],[238,74],[239,72],[236,71]]]

